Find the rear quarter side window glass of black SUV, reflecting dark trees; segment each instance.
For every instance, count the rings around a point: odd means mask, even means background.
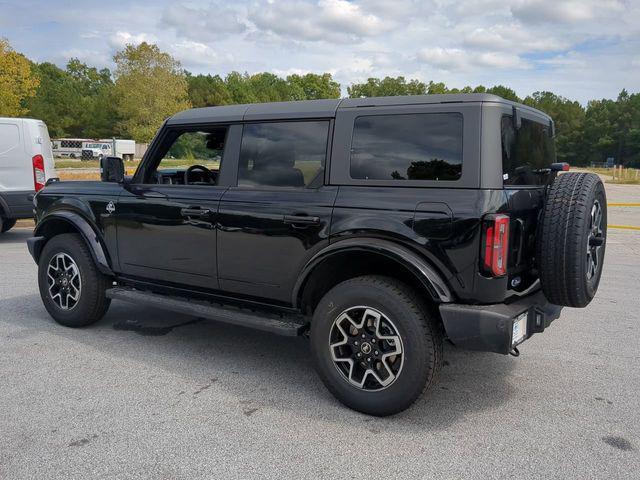
[[[358,117],[351,178],[458,180],[462,175],[462,114]]]

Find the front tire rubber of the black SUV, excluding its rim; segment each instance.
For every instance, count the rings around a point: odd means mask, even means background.
[[[49,262],[59,253],[73,259],[82,281],[79,300],[69,310],[60,308],[49,293],[47,269]],[[38,262],[38,286],[45,308],[59,324],[65,327],[85,327],[100,320],[111,303],[105,295],[110,285],[110,278],[97,269],[91,252],[80,235],[57,235],[45,244]]]

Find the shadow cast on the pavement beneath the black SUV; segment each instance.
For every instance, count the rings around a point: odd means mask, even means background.
[[[513,394],[509,376],[515,359],[446,344],[445,365],[435,386],[407,411],[375,418],[351,411],[331,396],[313,371],[304,338],[279,337],[120,302],[112,304],[104,319],[84,329],[57,325],[35,294],[8,298],[0,308],[0,322],[14,329],[7,342],[53,336],[51,344],[73,350],[73,344],[79,344],[82,355],[118,358],[118,369],[142,364],[154,376],[158,370],[178,375],[192,386],[187,394],[211,401],[212,411],[216,398],[207,395],[221,395],[225,402],[237,402],[247,416],[275,409],[290,417],[358,425],[373,434],[404,435],[447,428],[470,415],[499,408]],[[80,354],[70,351],[69,355]],[[166,395],[179,393],[185,392],[167,391]]]

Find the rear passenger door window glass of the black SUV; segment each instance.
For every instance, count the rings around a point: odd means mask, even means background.
[[[238,185],[315,187],[322,184],[329,122],[244,126]]]

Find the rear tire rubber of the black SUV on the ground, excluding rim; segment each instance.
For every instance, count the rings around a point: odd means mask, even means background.
[[[377,391],[352,385],[334,363],[330,332],[336,318],[365,305],[392,319],[402,340],[404,363],[395,381]],[[383,276],[362,276],[332,288],[315,309],[311,330],[314,367],[329,391],[346,406],[376,416],[401,412],[436,380],[442,368],[442,327],[427,305],[404,283]]]

